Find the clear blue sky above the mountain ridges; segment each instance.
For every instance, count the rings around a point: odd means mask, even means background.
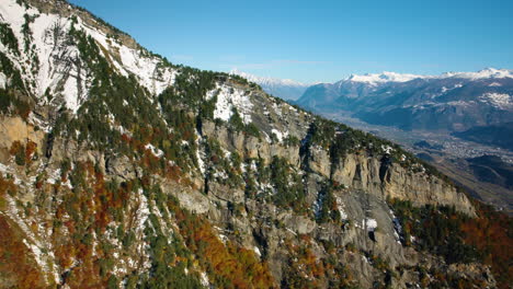
[[[509,0],[71,0],[172,62],[304,82],[513,69]]]

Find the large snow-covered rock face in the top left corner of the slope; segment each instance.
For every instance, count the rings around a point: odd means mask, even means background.
[[[23,78],[29,89],[39,96],[42,103],[46,103],[46,97],[41,97],[46,91],[59,95],[57,100],[62,100],[66,107],[76,113],[81,102],[79,88],[86,86],[87,73],[77,69],[76,59],[79,58],[77,47],[67,43],[67,32],[71,21],[56,14],[39,14],[37,10],[25,9],[13,0],[0,4],[0,14],[3,22],[10,24],[18,38],[20,55],[13,55],[3,46],[1,50],[13,60],[20,71],[26,71]],[[29,50],[23,47],[24,14],[34,18],[34,22],[30,24]],[[29,63],[35,63],[35,57],[39,66],[34,69]],[[57,90],[59,84],[64,86],[62,90]]]

